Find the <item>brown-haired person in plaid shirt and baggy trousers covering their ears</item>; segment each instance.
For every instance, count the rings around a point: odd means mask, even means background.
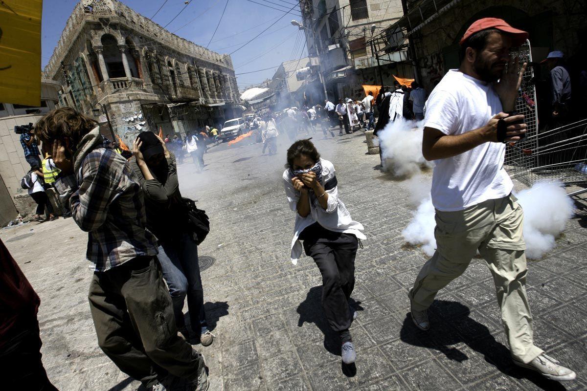
[[[35,134],[62,170],[55,185],[63,204],[88,232],[89,301],[100,348],[147,389],[181,381],[207,390],[203,356],[177,335],[157,239],[145,229],[143,193],[126,159],[108,147],[96,121],[69,107],[45,115]]]

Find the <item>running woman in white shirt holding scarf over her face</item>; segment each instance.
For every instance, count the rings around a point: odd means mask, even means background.
[[[342,361],[355,362],[356,353],[349,327],[356,318],[350,307],[355,287],[355,256],[361,223],[353,221],[338,196],[335,169],[320,158],[309,140],[298,140],[288,149],[283,179],[290,208],[296,212],[291,259],[302,254],[313,258],[322,274],[322,307],[330,328],[342,343]]]

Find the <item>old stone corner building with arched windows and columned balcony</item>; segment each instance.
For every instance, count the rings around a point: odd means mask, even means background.
[[[60,106],[110,118],[108,138],[181,134],[239,117],[231,57],[180,38],[116,0],[73,9],[45,73]]]

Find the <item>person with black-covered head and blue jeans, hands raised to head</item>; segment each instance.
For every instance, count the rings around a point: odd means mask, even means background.
[[[130,166],[139,177],[147,212],[147,229],[159,239],[163,278],[169,287],[177,329],[185,339],[193,336],[203,346],[214,341],[204,312],[204,290],[198,264],[198,247],[187,225],[177,178],[176,157],[153,132],[142,132],[133,145]],[[191,332],[185,325],[187,297]]]

